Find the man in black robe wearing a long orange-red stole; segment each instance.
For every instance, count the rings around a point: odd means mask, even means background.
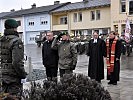
[[[108,84],[117,85],[120,73],[120,56],[121,56],[121,41],[116,38],[115,32],[109,33],[109,39],[106,40],[107,47],[107,80]]]

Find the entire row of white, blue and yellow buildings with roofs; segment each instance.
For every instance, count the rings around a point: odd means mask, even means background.
[[[128,18],[133,34],[133,0],[83,0],[76,3],[55,2],[54,5],[21,9],[0,17],[0,32],[4,21],[18,21],[18,32],[24,44],[34,44],[35,36],[44,31],[68,31],[72,36],[90,36],[94,31],[124,34]]]

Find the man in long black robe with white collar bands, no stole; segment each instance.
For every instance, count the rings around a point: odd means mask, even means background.
[[[88,76],[101,82],[104,79],[104,57],[106,56],[106,44],[98,38],[97,32],[93,33],[93,39],[89,41],[87,55],[89,58]]]

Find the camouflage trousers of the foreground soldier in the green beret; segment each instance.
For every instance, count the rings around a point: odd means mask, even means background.
[[[21,100],[23,91],[23,85],[21,83],[2,83],[2,92],[9,93],[11,96],[15,96],[18,100]]]

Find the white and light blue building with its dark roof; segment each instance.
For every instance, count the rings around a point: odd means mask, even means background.
[[[50,30],[51,20],[49,13],[68,3],[54,2],[54,5],[42,7],[36,7],[36,4],[33,4],[30,9],[21,9],[2,17],[2,27],[4,27],[4,22],[8,18],[17,20],[19,23],[18,32],[24,44],[35,44],[36,35]],[[4,31],[4,28],[2,28],[2,31]]]

